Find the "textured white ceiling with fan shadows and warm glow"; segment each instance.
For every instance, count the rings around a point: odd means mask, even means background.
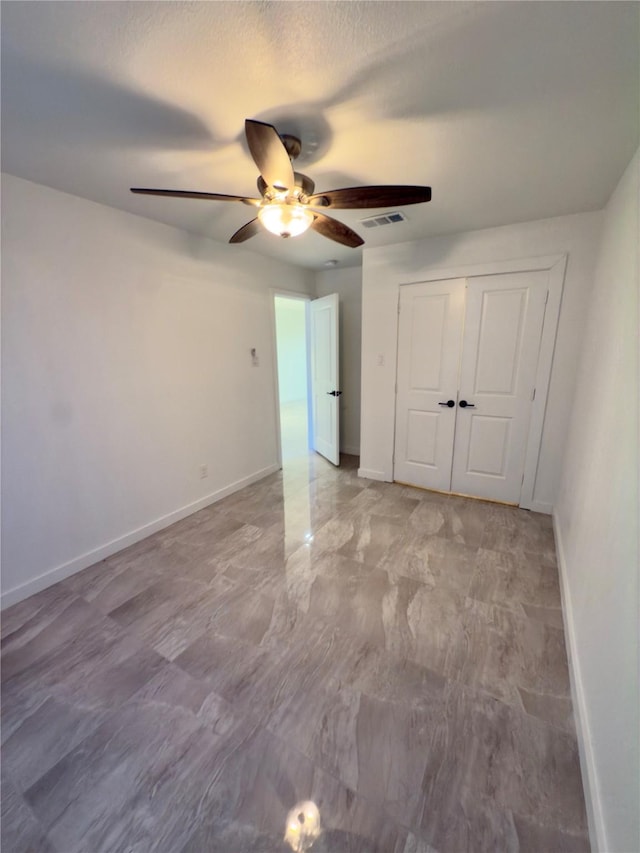
[[[411,183],[369,246],[602,207],[638,145],[635,2],[3,2],[3,169],[226,242],[255,195],[245,118],[302,137],[317,190]],[[361,250],[260,234],[320,268]]]

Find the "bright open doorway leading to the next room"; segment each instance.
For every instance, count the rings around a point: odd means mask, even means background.
[[[307,456],[313,445],[309,398],[308,297],[274,296],[282,461]]]

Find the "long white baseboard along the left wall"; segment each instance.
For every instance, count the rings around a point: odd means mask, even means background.
[[[247,477],[236,480],[235,483],[230,483],[222,489],[211,492],[193,503],[180,507],[179,509],[170,512],[167,515],[163,515],[161,518],[157,518],[154,521],[150,521],[148,524],[138,527],[136,530],[131,530],[129,533],[125,533],[124,536],[112,539],[111,542],[107,542],[105,545],[100,545],[98,548],[87,551],[85,554],[80,554],[80,556],[75,557],[73,560],[69,560],[67,563],[63,563],[61,566],[48,569],[41,575],[32,578],[30,581],[20,584],[19,586],[14,586],[13,589],[8,589],[6,592],[3,592],[0,599],[0,608],[4,610],[12,604],[17,604],[18,601],[22,601],[24,598],[28,598],[30,595],[40,592],[41,590],[52,586],[54,583],[58,583],[59,581],[68,578],[76,572],[80,572],[82,569],[86,569],[94,563],[100,562],[100,560],[104,560],[107,557],[111,557],[113,554],[117,554],[118,551],[128,548],[129,545],[134,545],[136,542],[140,542],[141,539],[146,539],[147,536],[151,536],[152,533],[157,533],[159,530],[163,530],[165,527],[175,524],[176,521],[181,521],[188,515],[192,515],[194,512],[198,512],[198,510],[204,509],[205,507],[222,500],[222,498],[226,498],[227,495],[231,495],[234,492],[243,489],[245,486],[250,486],[252,483],[262,480],[263,477],[268,477],[269,474],[273,474],[279,469],[280,466],[277,464],[269,465],[267,468],[263,468],[260,471],[256,471],[254,474],[250,474]]]

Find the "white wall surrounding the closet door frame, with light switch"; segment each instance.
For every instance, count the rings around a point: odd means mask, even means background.
[[[567,254],[562,308],[534,489],[535,508],[551,512],[562,467],[601,219],[601,213],[583,213],[364,250],[361,469],[380,479],[392,479],[400,282],[420,281],[426,271],[436,269]],[[382,365],[379,364],[381,357]]]

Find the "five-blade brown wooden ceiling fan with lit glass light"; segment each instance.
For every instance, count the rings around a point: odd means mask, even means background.
[[[372,207],[398,207],[431,200],[431,187],[373,186],[347,187],[314,193],[315,184],[307,175],[294,172],[292,162],[301,150],[300,140],[279,135],[271,124],[247,119],[244,123],[247,144],[258,167],[258,190],[261,198],[192,192],[190,190],[155,190],[131,187],[132,193],[200,198],[210,201],[240,201],[257,208],[257,216],[239,228],[229,240],[243,243],[262,227],[279,237],[297,237],[308,228],[352,248],[364,243],[356,234],[323,210],[351,210]]]

